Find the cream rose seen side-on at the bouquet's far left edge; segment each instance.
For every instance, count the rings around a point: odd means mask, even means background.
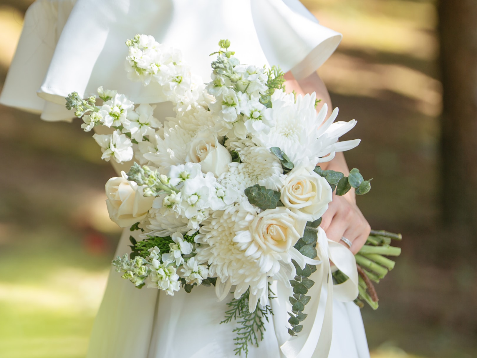
[[[111,178],[106,183],[106,206],[109,217],[119,227],[126,228],[141,221],[152,208],[154,197],[143,196],[142,187],[124,178]]]

